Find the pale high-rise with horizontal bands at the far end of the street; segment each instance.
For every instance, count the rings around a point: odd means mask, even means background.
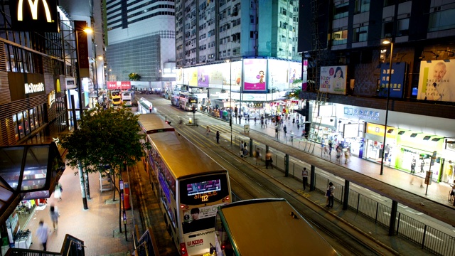
[[[145,89],[175,80],[174,1],[108,0],[105,10],[108,80],[137,73]]]

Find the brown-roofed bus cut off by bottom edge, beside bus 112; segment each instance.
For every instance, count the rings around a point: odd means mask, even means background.
[[[220,206],[215,221],[217,256],[339,255],[283,198]]]

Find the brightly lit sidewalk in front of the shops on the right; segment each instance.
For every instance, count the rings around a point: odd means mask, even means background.
[[[260,121],[257,121],[255,124],[254,119],[250,118],[250,122],[245,121],[245,119],[242,119],[242,123],[240,126],[244,126],[245,124],[250,124],[250,129],[255,130],[257,132],[262,132],[264,134],[267,134],[269,137],[272,137],[276,140],[275,136],[275,124],[270,122],[270,119],[267,120],[267,128],[261,127]],[[238,118],[237,122],[232,119],[232,124],[238,124]],[[280,126],[279,128],[279,142],[282,142],[283,144],[288,144],[291,145],[291,138],[290,134],[291,131],[294,132],[294,138],[293,138],[293,143],[292,145],[296,148],[304,149],[305,142],[302,141],[301,133],[303,130],[303,127],[300,126],[300,129],[297,129],[297,124],[292,124],[292,118],[290,120],[285,120],[284,124],[286,124],[287,127],[287,136],[284,136],[284,132],[282,130],[283,125]],[[300,145],[299,145],[300,143]],[[309,142],[308,142],[309,144]],[[344,157],[341,161],[338,161],[336,159],[336,151],[333,149],[331,157],[328,155],[323,155],[321,154],[321,144],[313,144],[314,145],[314,155],[319,156],[323,159],[327,159],[333,163],[339,164],[341,166],[345,166],[348,169],[351,169],[353,171],[356,171],[361,174],[365,174],[367,176],[370,176],[372,178],[377,179],[378,181],[382,181],[384,183],[388,183],[392,186],[395,186],[397,188],[402,188],[405,191],[409,191],[411,193],[414,193],[417,196],[422,196],[423,198],[427,198],[428,200],[446,205],[446,206],[453,206],[453,202],[450,202],[447,200],[449,196],[449,191],[451,191],[451,187],[448,183],[444,182],[432,182],[431,185],[428,186],[428,191],[427,195],[425,195],[425,191],[427,189],[427,185],[424,184],[424,174],[425,173],[416,173],[414,176],[412,176],[410,173],[406,171],[400,171],[397,169],[392,169],[386,164],[384,164],[384,170],[383,170],[383,175],[380,175],[380,163],[376,163],[374,161],[369,161],[366,159],[360,159],[357,156],[350,156],[350,161],[348,161],[348,164],[344,164]],[[411,184],[412,183],[412,184]],[[422,184],[424,187],[422,188],[420,186]]]

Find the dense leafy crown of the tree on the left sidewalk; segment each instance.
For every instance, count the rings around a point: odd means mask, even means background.
[[[97,106],[84,112],[80,118],[79,129],[62,139],[62,146],[68,149],[68,166],[76,167],[78,161],[86,171],[111,171],[119,174],[124,164],[134,166],[144,156],[143,147],[150,147],[144,142],[145,135],[140,134],[139,116],[129,109],[103,110]]]

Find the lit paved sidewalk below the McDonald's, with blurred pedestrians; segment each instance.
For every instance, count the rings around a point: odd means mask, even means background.
[[[77,170],[66,167],[60,178],[63,187],[62,201],[51,195],[43,210],[34,210],[28,223],[23,224],[22,230],[32,232],[32,250],[43,250],[36,237],[38,223],[43,220],[48,225],[48,251],[60,252],[63,239],[68,233],[84,241],[85,255],[130,255],[132,252],[132,211],[127,210],[127,235],[119,233],[119,196],[112,202],[113,191],[100,193],[99,174],[90,174],[90,196],[87,200],[88,210],[84,210],[80,193],[79,175],[74,175]],[[49,208],[54,205],[60,212],[58,229],[53,230],[50,220]],[[136,213],[134,213],[136,214]],[[122,230],[124,225],[122,223]]]

